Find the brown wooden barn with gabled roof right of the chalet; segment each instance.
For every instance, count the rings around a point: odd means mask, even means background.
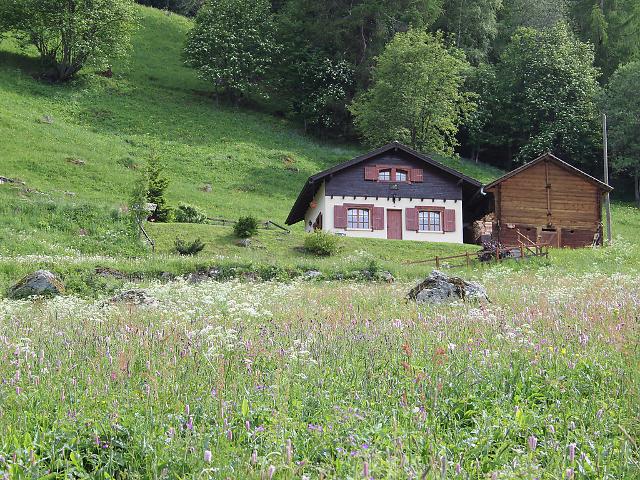
[[[487,185],[495,202],[492,235],[504,245],[602,244],[602,197],[612,188],[546,153]]]

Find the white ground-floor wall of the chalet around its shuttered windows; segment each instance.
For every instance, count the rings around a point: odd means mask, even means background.
[[[318,208],[320,208],[320,202],[318,203]],[[345,203],[364,203],[364,204],[373,204],[376,207],[384,207],[385,208],[385,216],[384,216],[384,230],[349,230],[349,229],[334,229],[333,228],[333,207],[334,205],[343,205]],[[415,230],[407,230],[407,223],[405,218],[405,209],[413,208],[417,206],[433,206],[433,207],[444,207],[446,209],[451,209],[456,211],[456,230],[455,232],[416,232]],[[395,203],[392,199],[379,198],[378,200],[375,197],[345,197],[342,196],[334,196],[325,197],[324,205],[322,209],[323,216],[323,230],[334,232],[334,233],[342,233],[349,237],[366,237],[366,238],[387,238],[387,209],[390,210],[401,210],[402,211],[402,239],[403,240],[418,240],[425,242],[448,242],[448,243],[462,243],[462,201],[454,201],[454,200],[438,200],[434,199],[408,199],[401,198],[396,199]],[[317,215],[317,213],[315,214]],[[315,219],[315,215],[312,215],[312,218]],[[444,220],[444,219],[443,219]],[[307,224],[308,219],[307,219]]]

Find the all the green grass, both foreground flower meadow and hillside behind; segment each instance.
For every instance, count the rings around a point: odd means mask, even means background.
[[[475,245],[344,238],[318,258],[300,225],[243,248],[169,223],[151,252],[126,209],[150,156],[172,205],[283,223],[309,175],[364,149],[219,104],[181,63],[189,20],[139,13],[113,78],[45,84],[0,42],[0,176],[24,182],[0,184],[1,478],[640,478],[638,209],[614,203],[606,248],[443,265],[487,304],[405,299],[433,268],[410,262]],[[67,294],[3,298],[40,268]],[[105,302],[137,287],[157,301]]]

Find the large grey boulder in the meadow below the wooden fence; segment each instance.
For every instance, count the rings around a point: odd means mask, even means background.
[[[426,280],[412,288],[407,298],[418,303],[489,301],[482,285],[460,277],[450,277],[439,270],[434,270]]]

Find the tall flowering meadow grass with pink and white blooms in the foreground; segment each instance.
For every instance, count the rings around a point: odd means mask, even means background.
[[[637,276],[186,283],[0,302],[13,478],[637,478]],[[210,453],[208,453],[210,452]]]

